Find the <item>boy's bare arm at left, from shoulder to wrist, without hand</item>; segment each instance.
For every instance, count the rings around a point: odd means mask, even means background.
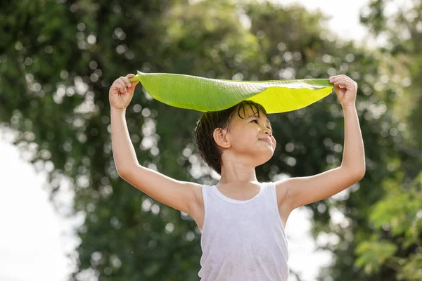
[[[141,166],[127,129],[125,110],[111,107],[111,140],[117,173],[155,200],[192,216],[201,185],[177,181]]]

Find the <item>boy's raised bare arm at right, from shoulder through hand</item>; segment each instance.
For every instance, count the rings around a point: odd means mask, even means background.
[[[365,174],[364,143],[355,105],[357,83],[345,75],[330,77],[330,81],[335,85],[345,118],[343,159],[338,168],[321,174],[276,182],[276,188],[284,191],[278,193],[287,195],[290,210],[331,197],[360,181]]]

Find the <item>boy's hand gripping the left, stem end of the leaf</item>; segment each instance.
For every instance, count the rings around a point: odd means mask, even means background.
[[[115,79],[113,84],[110,86],[110,91],[108,91],[110,107],[118,110],[126,109],[134,96],[136,84],[139,83],[139,81],[133,83],[129,81],[129,78],[134,76],[134,74],[127,74],[126,77],[121,76]]]

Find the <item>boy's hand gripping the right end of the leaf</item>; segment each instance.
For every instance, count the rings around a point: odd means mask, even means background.
[[[342,107],[355,105],[357,94],[357,83],[346,75],[335,75],[330,77],[330,82],[334,84],[334,91]]]

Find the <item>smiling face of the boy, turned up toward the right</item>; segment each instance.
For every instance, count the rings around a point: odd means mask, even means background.
[[[245,106],[243,110],[234,113],[231,120],[231,131],[227,134],[229,147],[227,151],[236,159],[248,161],[253,166],[259,166],[271,159],[276,149],[276,139],[271,132],[269,119],[260,112],[257,116],[257,109]],[[227,148],[227,147],[226,147]]]

